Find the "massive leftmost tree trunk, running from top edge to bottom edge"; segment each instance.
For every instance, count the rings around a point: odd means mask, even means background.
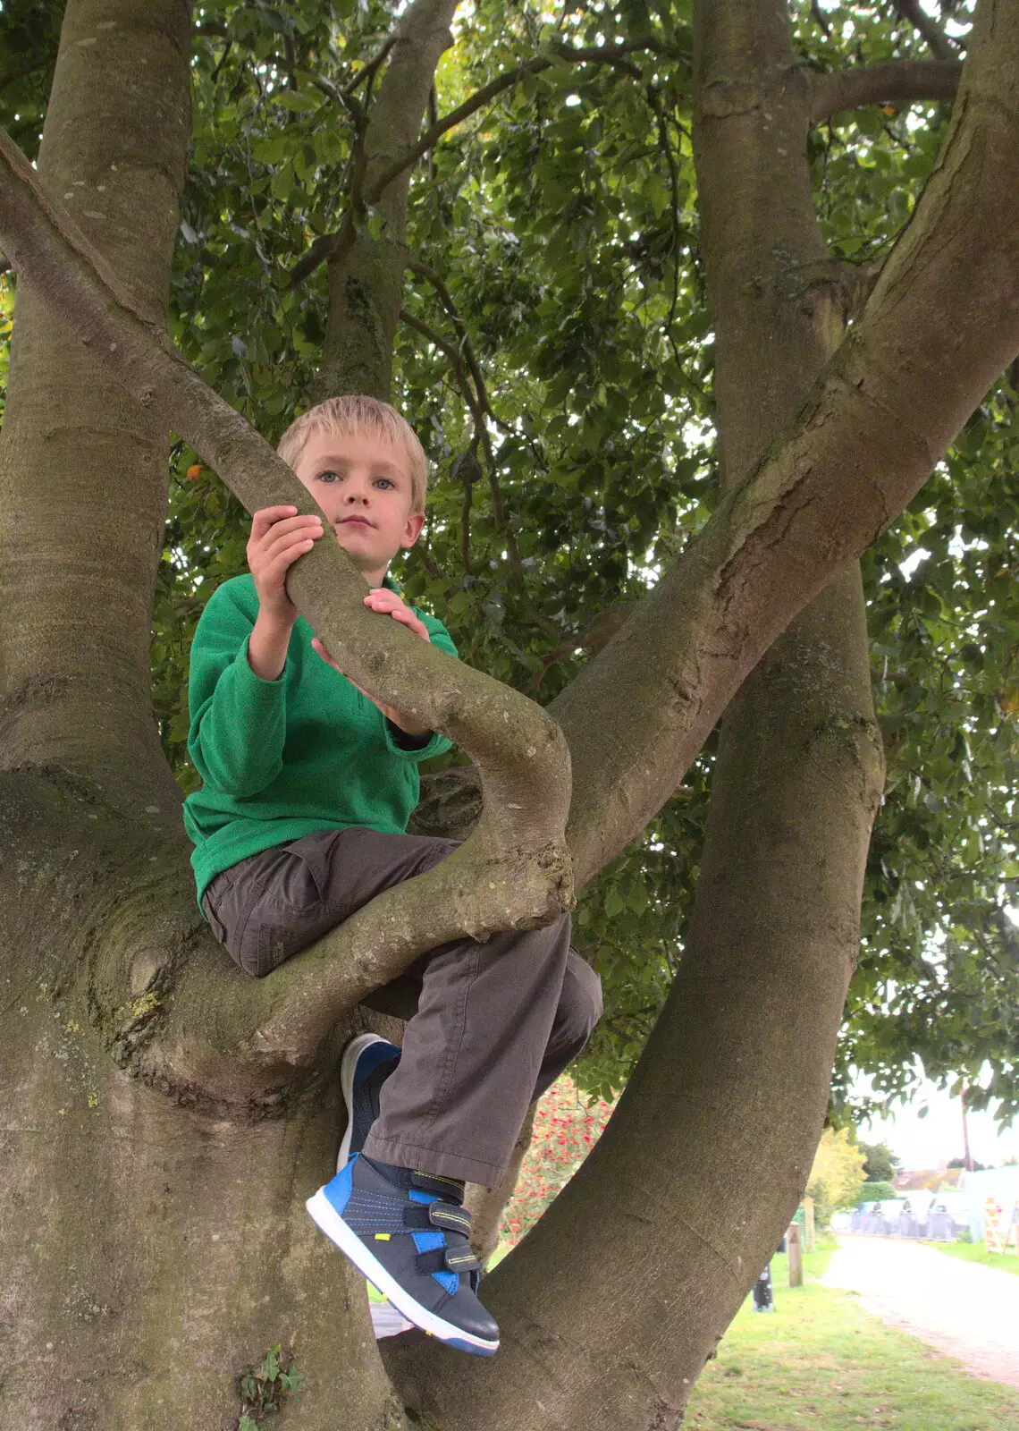
[[[183,0],[70,0],[39,159],[156,323],[189,56]],[[395,1431],[364,1281],[303,1209],[342,1126],[328,1050],[325,1078],[229,1109],[132,1065],[175,966],[208,944],[149,694],[166,446],[19,285],[0,446],[19,770],[0,790],[0,1428],[233,1431],[238,1374],[293,1338],[292,1424]],[[114,975],[130,995],[107,1020]]]

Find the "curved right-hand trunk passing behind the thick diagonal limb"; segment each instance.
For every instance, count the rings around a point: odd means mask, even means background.
[[[697,20],[696,157],[731,489],[837,346],[842,295],[813,213],[784,3],[703,0]],[[492,1279],[499,1375],[471,1369],[454,1385],[414,1349],[389,1354],[411,1404],[444,1431],[678,1425],[806,1185],[882,771],[853,564],[726,713],[678,976],[595,1153]],[[594,1325],[582,1308],[607,1286],[611,1309]]]

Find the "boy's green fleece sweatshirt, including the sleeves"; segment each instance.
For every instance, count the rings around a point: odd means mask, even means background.
[[[388,577],[385,585],[398,590]],[[455,655],[442,622],[414,611],[432,645]],[[255,582],[233,577],[212,594],[195,631],[187,751],[202,788],[185,801],[185,827],[199,902],[222,870],[313,830],[402,834],[421,791],[418,763],[451,744],[432,734],[406,748],[411,737],[315,654],[303,617],[281,675],[263,681],[248,664],[256,615]]]

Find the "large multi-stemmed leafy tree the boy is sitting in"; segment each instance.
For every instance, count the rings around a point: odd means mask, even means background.
[[[281,1425],[303,1431],[408,1408],[442,1431],[674,1427],[806,1182],[882,776],[853,562],[876,542],[897,570],[889,524],[959,439],[937,519],[925,495],[903,528],[950,547],[959,444],[1005,451],[1019,26],[982,0],[967,30],[960,7],[960,73],[877,7],[839,7],[847,43],[779,0],[551,21],[482,3],[457,63],[455,9],[209,3],[192,23],[182,0],[70,0],[56,62],[57,9],[4,9],[9,127],[37,172],[3,145],[3,1425],[232,1427],[236,1377],[292,1341],[301,1405],[283,1398]],[[956,90],[916,123],[873,107]],[[242,414],[272,435],[321,382],[386,391],[394,359],[432,451],[457,456],[412,590],[469,628],[471,665],[381,637],[336,551],[292,591],[359,684],[469,756],[422,819],[474,833],[245,983],[198,917],[163,748],[175,625],[198,575],[236,570],[243,525],[206,471],[175,484],[165,544],[166,434],[175,474],[203,465],[249,508],[289,499]],[[943,564],[966,561],[963,544]],[[910,633],[882,600],[894,651]],[[704,768],[677,790],[723,710],[691,856]],[[893,929],[903,869],[884,876]],[[408,1338],[384,1369],[362,1286],[301,1208],[335,1149],[358,999],[451,933],[550,917],[603,870],[585,939],[625,909],[647,916],[637,962],[655,953],[618,982],[611,1036],[660,1007],[654,1030],[595,1152],[488,1284],[495,1362]],[[1012,986],[986,894],[952,937],[990,1003],[977,934]],[[925,989],[965,1003],[939,970]]]

